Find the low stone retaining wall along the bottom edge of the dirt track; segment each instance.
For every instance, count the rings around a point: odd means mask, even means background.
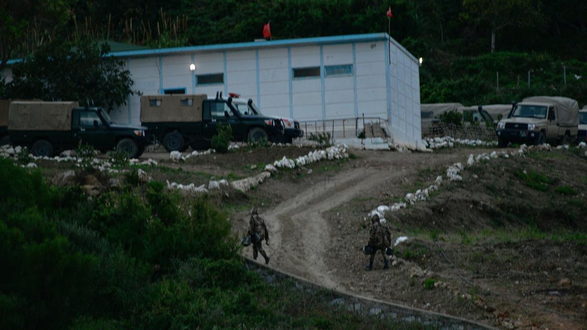
[[[268,283],[293,281],[296,289],[311,294],[316,291],[325,290],[324,287],[305,280],[304,278],[258,264],[246,257],[245,265],[249,270],[256,272]],[[332,289],[326,290],[328,290],[328,292],[334,297],[334,299],[328,303],[329,305],[338,305],[349,312],[355,312],[362,316],[371,315],[379,316],[382,319],[387,318],[390,319],[390,321],[417,322],[441,329],[497,329],[489,325],[481,324],[469,319],[458,318],[456,316],[426,311],[424,309],[394,304],[393,302],[381,301]]]

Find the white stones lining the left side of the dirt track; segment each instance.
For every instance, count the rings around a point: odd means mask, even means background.
[[[296,167],[303,167],[308,164],[316,163],[321,160],[335,160],[335,159],[345,159],[349,157],[348,147],[346,144],[338,144],[336,146],[331,146],[323,150],[314,150],[310,151],[305,156],[300,156],[296,159],[291,159],[287,157],[283,157],[280,160],[274,161],[273,164],[266,164],[264,171],[257,174],[256,176],[247,177],[245,179],[232,181],[230,186],[235,188],[236,190],[240,190],[242,192],[246,192],[250,190],[252,187],[256,187],[259,184],[263,183],[265,179],[271,177],[271,173],[276,173],[278,169],[288,168],[288,169],[295,169]],[[212,151],[208,149],[204,151],[204,153],[198,153],[198,151],[193,151],[194,156],[198,156],[200,154],[210,154]],[[189,155],[189,154],[188,154]],[[181,156],[179,151],[171,151],[170,158],[174,161],[179,161],[188,159],[189,157]],[[190,183],[187,185],[178,184],[176,182],[169,182],[167,181],[167,188],[169,189],[179,189],[183,193],[202,193],[207,194],[208,190],[210,189],[220,189],[221,186],[228,186],[229,183],[226,180],[210,180],[208,183],[208,187],[205,184],[201,186],[195,186],[194,183]]]

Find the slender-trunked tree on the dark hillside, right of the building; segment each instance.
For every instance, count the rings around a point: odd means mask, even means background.
[[[540,4],[534,0],[463,0],[461,18],[491,29],[491,52],[495,52],[495,34],[508,25],[532,26],[542,18]]]

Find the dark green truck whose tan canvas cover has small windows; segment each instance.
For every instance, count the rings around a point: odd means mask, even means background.
[[[151,142],[161,142],[167,151],[209,148],[219,124],[231,126],[235,141],[284,140],[281,119],[241,112],[232,97],[218,94],[215,99],[205,94],[143,95],[140,119]]]

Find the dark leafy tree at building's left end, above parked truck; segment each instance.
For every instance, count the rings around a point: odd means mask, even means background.
[[[137,93],[124,62],[107,56],[109,46],[82,42],[76,48],[50,42],[12,67],[5,97],[92,102],[112,110]]]

